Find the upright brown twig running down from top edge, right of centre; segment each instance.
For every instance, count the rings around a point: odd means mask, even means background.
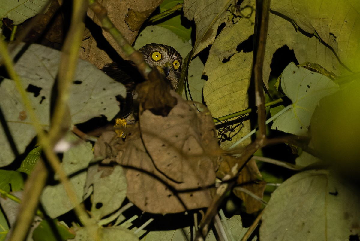
[[[258,126],[260,140],[266,139],[266,113],[265,113],[265,96],[264,82],[262,80],[262,66],[264,64],[267,28],[269,22],[270,0],[256,0],[256,19],[255,26],[255,46],[253,61],[253,79],[255,81],[255,103],[257,106]]]

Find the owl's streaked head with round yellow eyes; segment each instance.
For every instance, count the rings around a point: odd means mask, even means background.
[[[177,88],[181,76],[183,58],[174,48],[162,44],[147,44],[139,49],[144,54],[145,62],[156,67],[166,79],[171,81],[172,87]]]

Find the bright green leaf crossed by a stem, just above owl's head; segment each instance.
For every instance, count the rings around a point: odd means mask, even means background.
[[[168,10],[168,9],[174,7],[178,3],[183,3],[183,0],[180,0],[180,1],[165,0],[162,2],[162,4],[160,4],[160,11],[163,12],[165,10]],[[176,16],[159,23],[157,26],[164,27],[168,30],[171,30],[177,36],[184,39],[185,41],[189,41],[191,38],[191,27],[189,26],[187,28],[182,24],[180,14],[177,14]]]

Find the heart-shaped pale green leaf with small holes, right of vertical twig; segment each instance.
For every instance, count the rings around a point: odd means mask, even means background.
[[[281,87],[293,104],[275,119],[271,129],[294,135],[306,135],[319,100],[339,89],[338,84],[325,75],[297,67],[293,62],[283,71]]]

